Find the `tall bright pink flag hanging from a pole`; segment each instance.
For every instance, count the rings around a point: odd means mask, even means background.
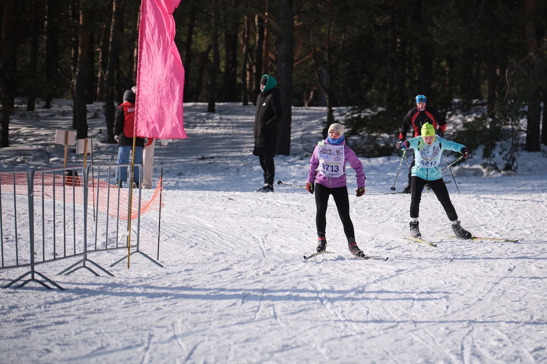
[[[174,44],[173,11],[181,0],[142,0],[138,33],[135,135],[184,139],[184,67]]]

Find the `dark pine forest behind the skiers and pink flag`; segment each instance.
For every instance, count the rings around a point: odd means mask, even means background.
[[[78,139],[88,136],[86,105],[104,102],[115,142],[115,106],[136,83],[140,6],[1,0],[0,147],[17,108],[48,109],[53,98],[74,100]],[[276,77],[278,154],[289,154],[291,106],[325,106],[325,125],[345,107],[339,121],[358,154],[391,154],[416,94],[447,117],[470,115],[458,142],[481,148],[487,168],[516,170],[519,150],[547,145],[545,1],[183,0],[173,16],[184,102],[208,112],[254,104],[261,76]]]

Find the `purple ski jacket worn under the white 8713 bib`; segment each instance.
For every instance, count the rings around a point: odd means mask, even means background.
[[[324,140],[324,142],[325,144],[332,145],[327,140]],[[319,166],[317,148],[319,146],[316,145],[310,159],[310,170],[308,172],[307,182],[321,183],[323,186],[329,188],[344,187],[346,186],[346,163],[350,162],[351,168],[355,170],[355,174],[357,177],[357,187],[365,187],[365,174],[363,173],[363,163],[361,163],[361,161],[359,160],[359,158],[357,158],[355,153],[353,153],[351,148],[346,145],[345,140],[342,141],[342,145],[344,145],[344,174],[342,174],[340,177],[325,177],[321,173],[317,172],[317,167]]]

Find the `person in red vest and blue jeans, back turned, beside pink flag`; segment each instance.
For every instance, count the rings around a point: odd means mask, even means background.
[[[124,102],[118,106],[114,120],[114,139],[118,141],[118,164],[130,163],[129,154],[133,149],[133,130],[135,129],[135,93],[128,89],[124,92]],[[142,165],[142,150],[144,138],[135,140],[135,164]],[[114,186],[123,188],[123,181],[127,181],[127,167],[116,168]],[[139,170],[135,166],[133,171],[133,188],[139,186]]]

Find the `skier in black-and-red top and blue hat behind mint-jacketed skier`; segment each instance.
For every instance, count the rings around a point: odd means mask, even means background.
[[[435,128],[435,134],[443,136],[446,130],[446,120],[437,109],[427,105],[427,99],[423,95],[416,96],[416,107],[409,110],[403,120],[403,127],[399,133],[399,141],[406,140],[406,133],[412,127],[412,138],[420,136],[423,124],[429,122]],[[409,183],[403,188],[404,193],[410,193],[410,182],[412,180],[412,167],[414,160],[409,168]]]

